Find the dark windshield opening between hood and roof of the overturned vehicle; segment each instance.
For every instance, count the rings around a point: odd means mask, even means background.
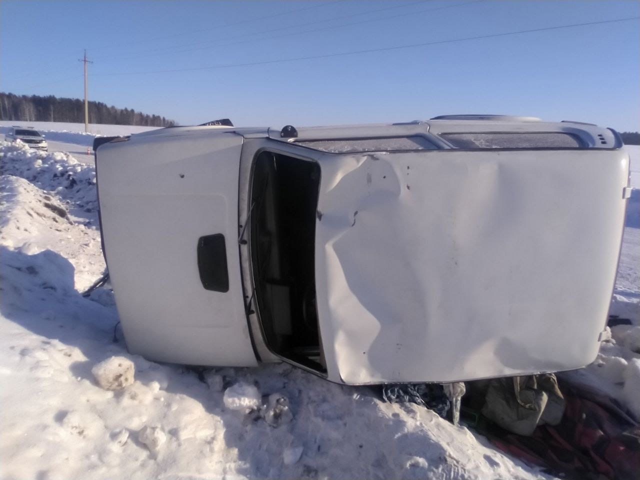
[[[250,250],[262,334],[276,355],[326,372],[315,280],[316,162],[261,152],[253,165]]]

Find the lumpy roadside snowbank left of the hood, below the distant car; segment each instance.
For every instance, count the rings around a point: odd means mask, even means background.
[[[106,268],[95,168],[4,141],[0,162],[1,244],[28,254],[51,248],[76,268],[76,287],[89,287]]]

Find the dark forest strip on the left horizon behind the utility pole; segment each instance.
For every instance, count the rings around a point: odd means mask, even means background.
[[[59,99],[53,95],[14,95],[0,92],[0,120],[15,122],[84,123],[84,100]],[[134,109],[116,108],[102,102],[89,102],[90,124],[143,125],[173,127],[164,116],[147,115]]]

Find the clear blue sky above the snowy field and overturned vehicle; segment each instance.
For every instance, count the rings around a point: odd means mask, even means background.
[[[505,113],[636,131],[637,19],[228,65],[639,15],[634,0],[2,0],[0,90],[81,98],[77,59],[86,48],[95,62],[90,99],[180,124],[228,117],[236,125],[325,125]],[[227,66],[158,72],[220,65]]]

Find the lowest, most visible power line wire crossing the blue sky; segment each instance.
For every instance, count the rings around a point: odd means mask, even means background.
[[[358,55],[358,54],[373,53],[373,52],[386,52],[386,51],[394,51],[394,50],[401,50],[401,49],[410,49],[415,47],[427,47],[430,45],[452,44],[456,42],[468,42],[470,40],[481,40],[484,38],[497,38],[500,36],[520,35],[522,33],[534,33],[534,32],[540,32],[540,31],[559,30],[564,28],[575,28],[575,27],[583,27],[583,26],[590,26],[590,25],[602,25],[602,24],[610,24],[610,23],[616,23],[616,22],[626,22],[628,20],[637,20],[637,19],[640,19],[640,17],[626,17],[623,19],[598,20],[595,22],[584,22],[584,23],[576,23],[576,24],[568,24],[568,25],[559,25],[555,27],[516,30],[516,31],[510,31],[510,32],[503,32],[503,33],[492,33],[489,35],[467,36],[464,38],[452,38],[449,40],[435,40],[433,42],[422,42],[419,44],[396,45],[394,47],[382,47],[382,48],[376,48],[376,49],[355,50],[350,52],[329,53],[329,54],[323,54],[323,55],[310,55],[310,56],[294,57],[294,58],[281,58],[278,60],[262,60],[262,61],[246,62],[246,63],[227,63],[224,65],[211,65],[209,67],[174,68],[171,70],[150,70],[145,72],[119,72],[119,73],[97,74],[97,75],[99,76],[146,75],[146,74],[164,74],[164,73],[173,73],[173,72],[195,72],[197,70],[214,70],[217,68],[250,67],[253,65],[268,65],[271,63],[284,63],[289,61],[317,60],[320,58],[333,58],[333,57],[339,57],[339,56]]]

